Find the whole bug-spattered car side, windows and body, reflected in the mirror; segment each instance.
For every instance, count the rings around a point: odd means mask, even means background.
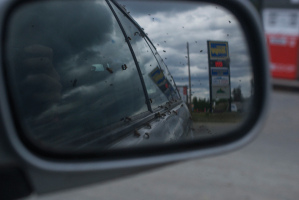
[[[63,1],[33,3],[10,19],[8,75],[16,81],[10,84],[19,102],[16,115],[24,136],[37,147],[42,143],[43,148],[68,151],[192,138],[188,108],[180,106],[175,83],[144,30],[114,1],[78,1],[69,6]],[[67,7],[72,11],[60,22]],[[64,22],[75,24],[78,18],[85,29],[64,27]],[[26,69],[24,59],[13,54],[15,48],[28,51]],[[48,66],[35,64],[46,56]],[[60,79],[52,83],[57,75]],[[40,79],[62,87],[42,88]],[[54,92],[58,101],[52,101]],[[168,110],[160,105],[176,114],[166,115]],[[130,123],[123,123],[123,118]],[[136,138],[146,132],[150,135],[146,140]]]

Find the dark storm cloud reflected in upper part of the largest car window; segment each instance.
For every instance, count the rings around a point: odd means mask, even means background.
[[[55,50],[54,62],[106,42],[112,31],[108,25],[112,23],[109,10],[101,3],[88,1],[37,2],[21,7],[11,20],[14,48],[32,44],[48,46]]]

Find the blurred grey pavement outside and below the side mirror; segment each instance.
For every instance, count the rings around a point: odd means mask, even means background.
[[[299,94],[274,93],[262,134],[207,159],[30,200],[298,200]]]

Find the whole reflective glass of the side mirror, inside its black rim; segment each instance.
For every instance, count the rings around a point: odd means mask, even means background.
[[[5,30],[11,107],[20,134],[39,148],[198,140],[229,133],[250,112],[247,40],[219,5],[30,2],[10,13]]]

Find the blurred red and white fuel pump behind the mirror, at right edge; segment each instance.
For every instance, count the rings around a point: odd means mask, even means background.
[[[266,8],[263,10],[263,21],[272,77],[297,79],[299,10]]]

